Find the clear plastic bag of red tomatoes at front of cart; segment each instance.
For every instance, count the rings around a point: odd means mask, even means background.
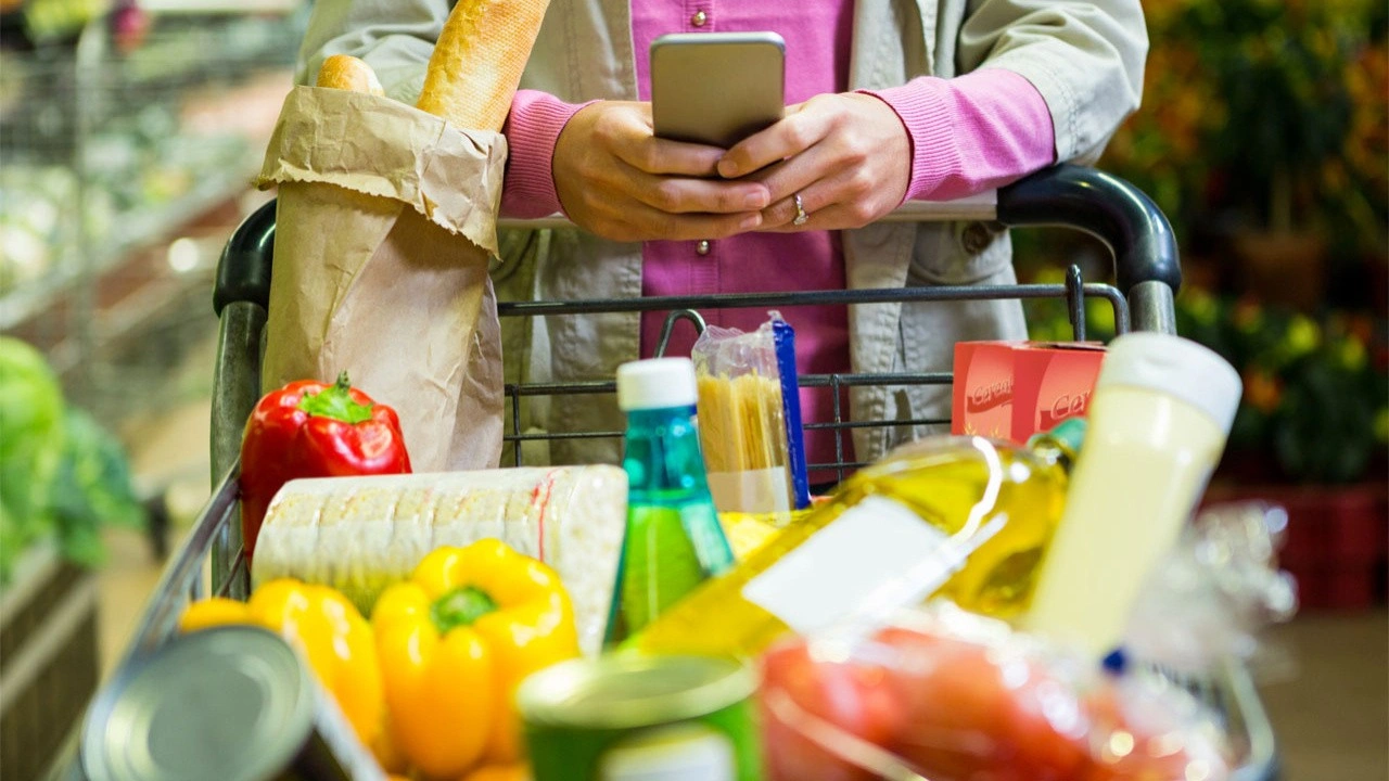
[[[1231,752],[1185,692],[1083,664],[932,605],[863,635],[774,648],[758,700],[768,777],[1222,781]]]

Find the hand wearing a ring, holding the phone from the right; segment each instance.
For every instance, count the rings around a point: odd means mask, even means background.
[[[738,143],[720,175],[771,188],[763,231],[861,228],[901,204],[911,181],[911,138],[897,113],[871,94],[822,94]],[[795,225],[796,203],[810,218]]]

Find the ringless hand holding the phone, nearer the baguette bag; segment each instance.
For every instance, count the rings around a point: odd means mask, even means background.
[[[599,101],[569,118],[551,163],[569,220],[618,242],[722,239],[761,224],[767,185],[720,179],[722,149],[651,132],[646,103]]]

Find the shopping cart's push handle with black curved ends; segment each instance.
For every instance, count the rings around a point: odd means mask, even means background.
[[[1061,164],[999,190],[997,206],[983,204],[958,217],[997,218],[1010,228],[1053,225],[1096,236],[1114,256],[1114,278],[1129,296],[1145,282],[1161,282],[1175,295],[1182,283],[1172,227],[1163,211],[1129,182],[1095,168]],[[906,204],[888,220],[929,220],[932,213]],[[939,218],[939,217],[936,217]],[[564,220],[504,221],[515,227],[568,225]],[[257,208],[226,242],[217,267],[213,309],[232,302],[269,307],[275,253],[275,202]]]

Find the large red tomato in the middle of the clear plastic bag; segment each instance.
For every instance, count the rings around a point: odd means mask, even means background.
[[[1021,657],[971,642],[890,628],[893,688],[907,728],[890,745],[933,781],[1063,781],[1085,767],[1079,703]],[[1050,716],[1049,716],[1050,714]]]

